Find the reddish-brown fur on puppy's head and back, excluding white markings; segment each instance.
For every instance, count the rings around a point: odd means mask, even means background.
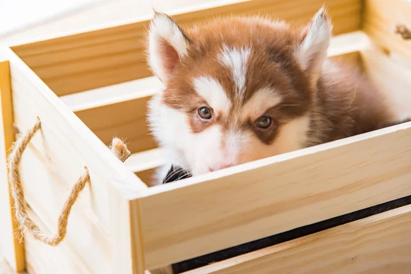
[[[310,116],[308,146],[369,132],[393,121],[393,114],[377,90],[352,69],[342,69],[327,60],[315,88],[299,68],[293,50],[306,35],[306,29],[272,23],[261,18],[218,18],[208,24],[187,29],[190,41],[188,57],[177,62],[173,77],[166,83],[164,103],[188,114],[192,132],[197,133],[213,123],[228,129],[233,116],[254,92],[271,87],[283,98],[282,105],[267,110],[276,126],[261,132],[250,119],[238,121],[238,127],[249,128],[267,144],[275,139],[277,127],[304,114]],[[218,58],[223,45],[250,47],[244,97],[234,101],[235,84],[231,71]],[[200,121],[195,110],[205,105],[192,86],[192,79],[210,75],[227,92],[234,103],[231,112],[219,119]]]

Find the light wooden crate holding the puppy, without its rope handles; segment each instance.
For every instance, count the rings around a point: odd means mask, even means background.
[[[408,1],[237,1],[171,15],[182,25],[259,12],[307,23],[324,2],[336,35],[329,58],[362,67],[409,109],[411,42],[393,31],[411,24]],[[142,49],[148,20],[3,49],[0,245],[14,270],[145,273],[411,195],[411,123],[149,187],[162,161],[145,120],[160,85]],[[5,156],[13,123],[25,132],[36,116],[20,172],[42,229],[55,232],[73,182],[90,172],[57,247],[13,237]],[[114,134],[133,153],[125,163],[107,147]],[[411,206],[401,206],[187,273],[405,274],[410,251]]]

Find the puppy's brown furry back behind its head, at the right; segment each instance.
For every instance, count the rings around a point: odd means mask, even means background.
[[[319,145],[395,124],[385,97],[356,69],[326,61],[310,111],[310,143]]]

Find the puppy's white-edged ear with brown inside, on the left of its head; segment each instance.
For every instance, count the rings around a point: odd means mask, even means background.
[[[149,27],[149,66],[154,75],[166,82],[175,65],[187,55],[190,40],[168,15],[156,12]]]

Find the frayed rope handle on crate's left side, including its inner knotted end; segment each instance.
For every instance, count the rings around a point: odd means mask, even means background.
[[[58,217],[57,234],[54,236],[47,236],[27,214],[27,201],[24,197],[23,184],[21,183],[20,172],[18,171],[23,152],[40,127],[40,119],[37,117],[36,124],[27,129],[27,132],[22,134],[20,138],[14,142],[12,152],[8,156],[8,182],[12,200],[14,202],[15,219],[18,223],[20,239],[23,238],[25,231],[29,231],[36,240],[40,240],[47,245],[56,246],[59,245],[66,236],[67,221],[69,219],[71,208],[75,201],[77,201],[77,198],[79,197],[80,192],[84,189],[84,186],[86,186],[86,183],[90,180],[90,175],[87,167],[84,166],[83,174],[71,188],[70,195],[66,199],[60,216]],[[119,138],[113,138],[110,149],[123,162],[127,160],[129,155],[131,155],[124,142]]]

